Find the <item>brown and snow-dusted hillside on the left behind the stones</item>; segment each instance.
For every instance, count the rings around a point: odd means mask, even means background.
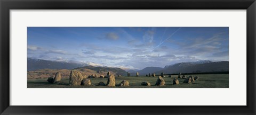
[[[100,64],[90,62],[78,62],[70,60],[43,60],[43,59],[27,59],[28,64],[28,78],[47,78],[54,77],[55,73],[61,72],[63,78],[68,78],[71,69],[76,69],[83,76],[89,76],[92,74],[107,75],[110,72],[111,75],[126,76],[127,72],[121,68],[107,67]]]

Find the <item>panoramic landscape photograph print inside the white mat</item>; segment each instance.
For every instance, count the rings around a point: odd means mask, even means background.
[[[28,88],[228,88],[228,27],[27,27]]]

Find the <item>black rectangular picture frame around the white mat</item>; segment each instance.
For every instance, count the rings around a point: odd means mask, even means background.
[[[255,0],[0,0],[1,114],[255,114]],[[224,9],[246,10],[246,106],[13,106],[10,105],[10,10]],[[238,22],[239,23],[239,22]],[[243,76],[244,77],[244,76]],[[237,84],[239,85],[239,84]]]

